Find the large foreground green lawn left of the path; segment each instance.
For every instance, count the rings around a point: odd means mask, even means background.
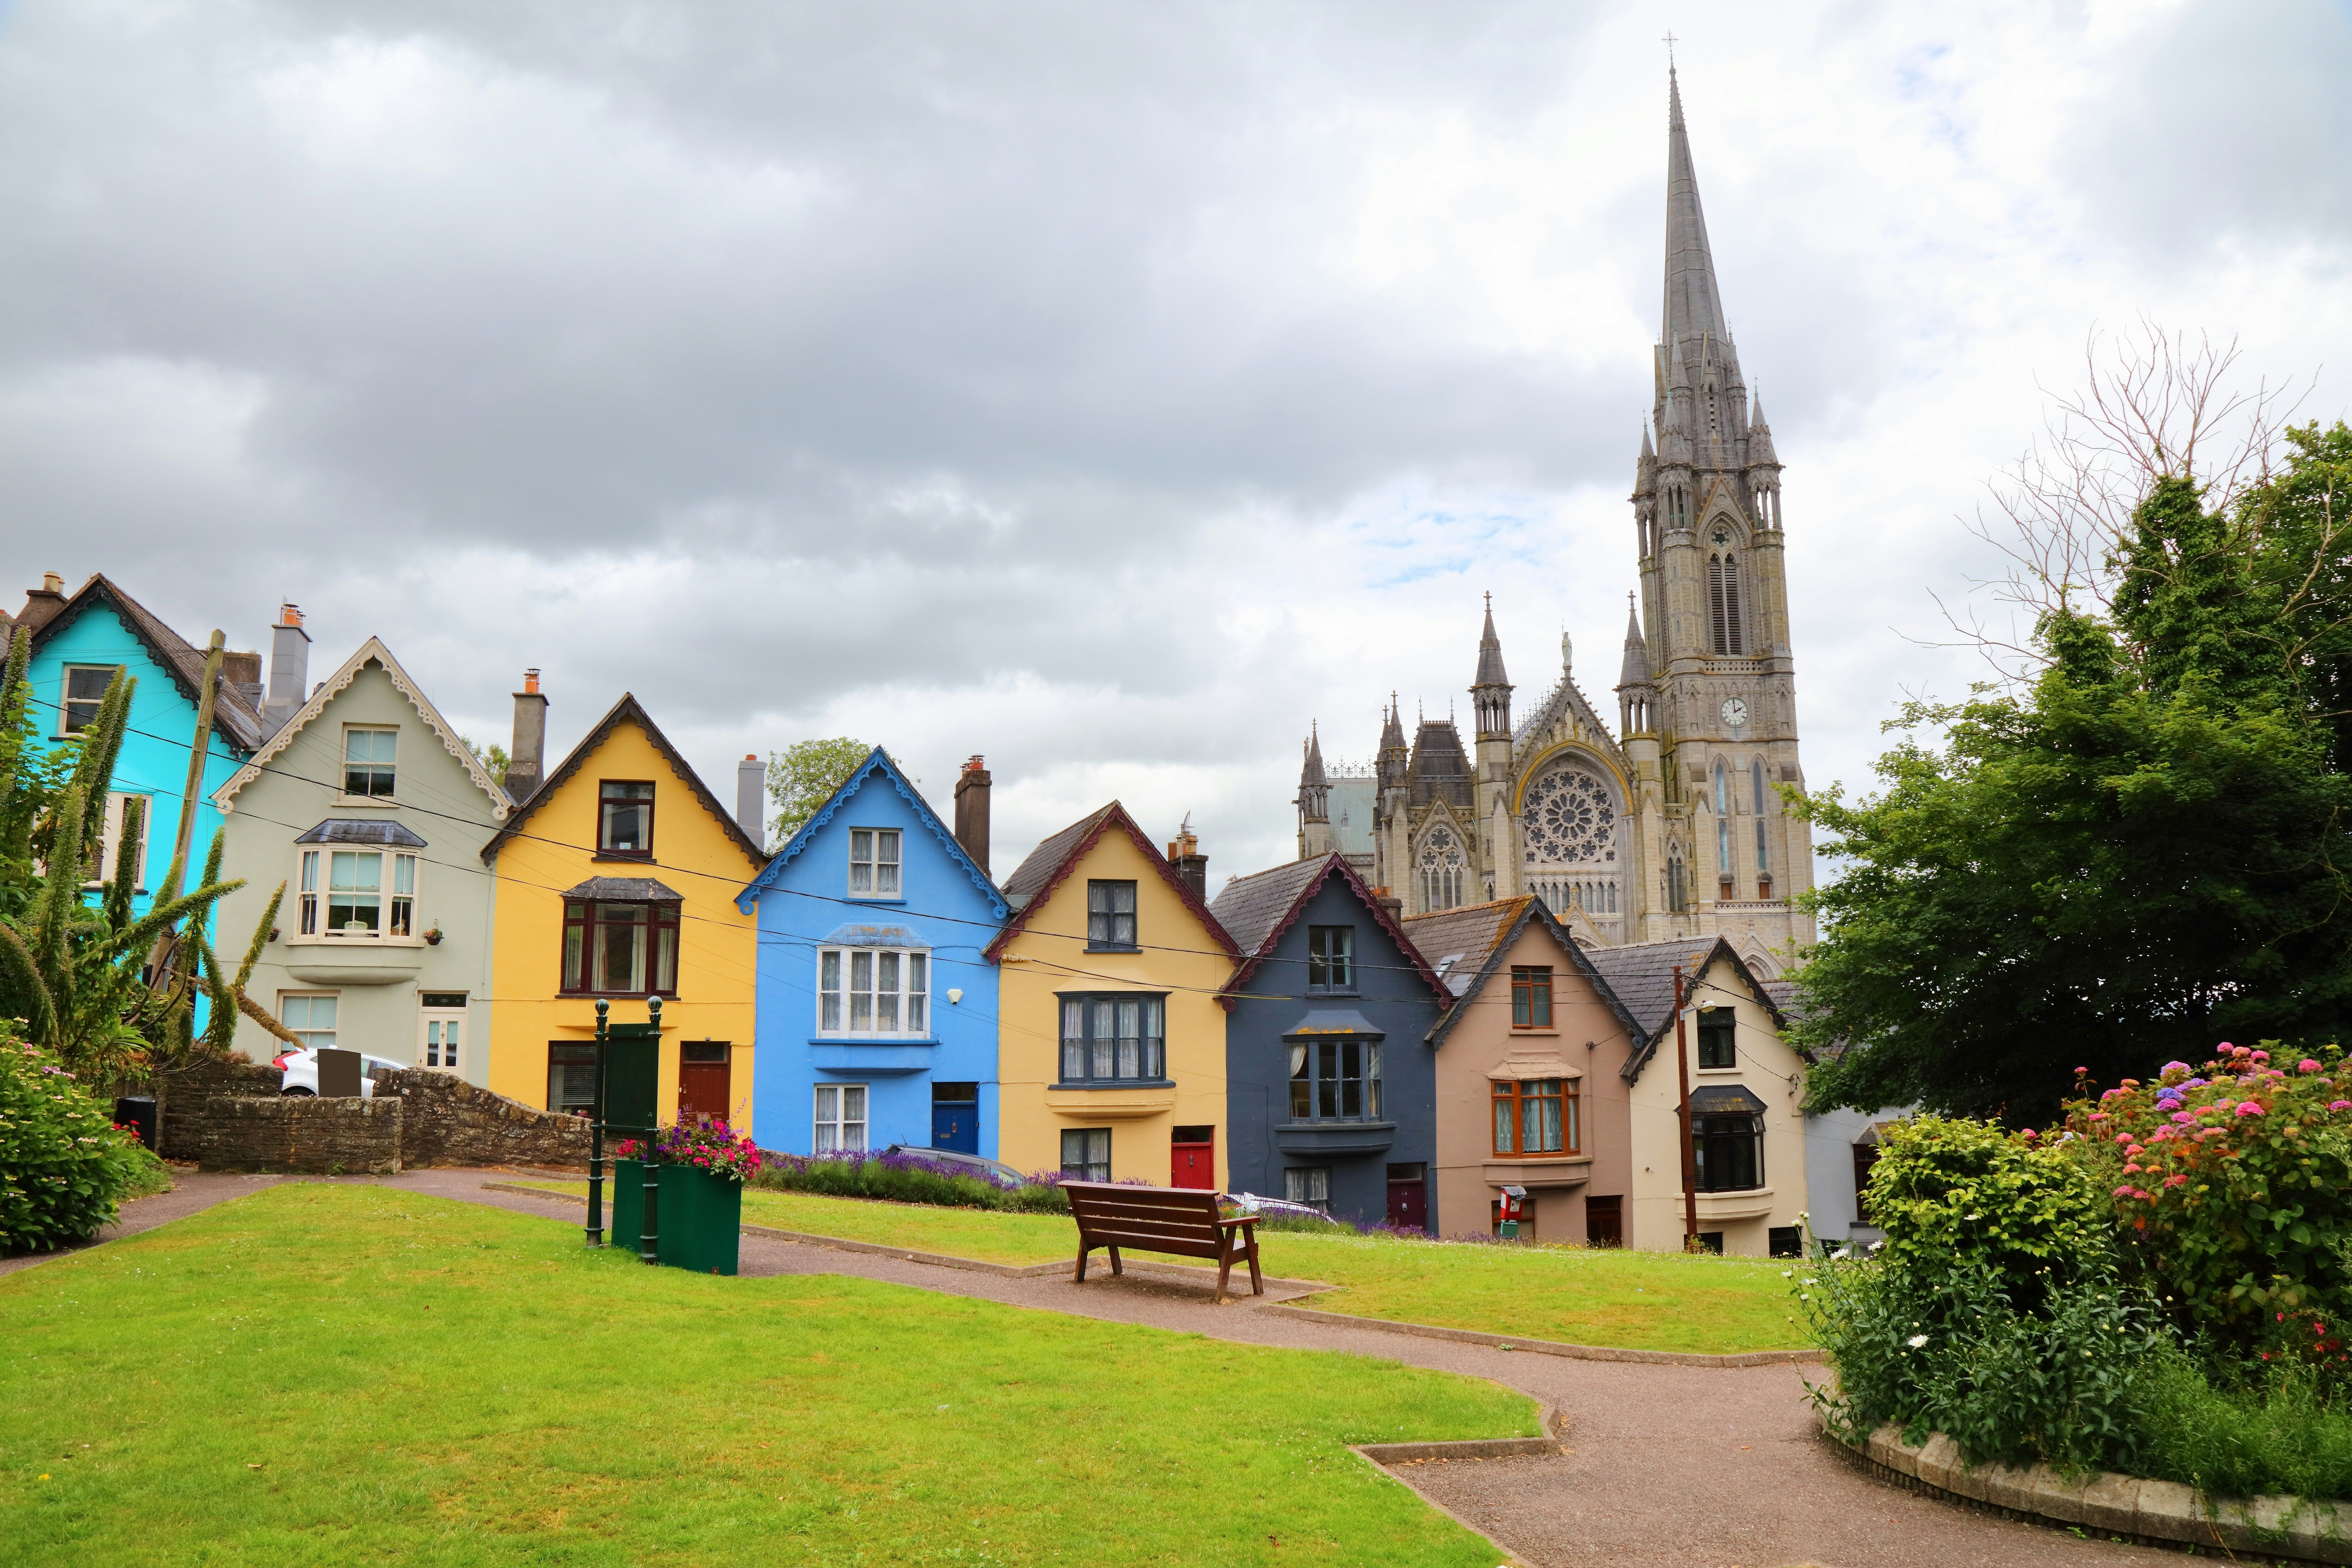
[[[289,1182],[0,1279],[0,1563],[1428,1563],[1531,1401]]]

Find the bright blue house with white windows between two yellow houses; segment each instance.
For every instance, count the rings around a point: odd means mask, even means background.
[[[988,879],[978,757],[955,816],[962,835],[875,748],[736,896],[760,919],[762,1145],[995,1159],[997,971],[981,950],[1009,907]]]

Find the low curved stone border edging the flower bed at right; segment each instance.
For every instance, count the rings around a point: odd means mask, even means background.
[[[1828,1436],[1828,1432],[1823,1434]],[[1837,1439],[1830,1439],[1837,1441]],[[2352,1563],[2352,1507],[2303,1497],[2206,1497],[2178,1481],[2143,1481],[2112,1469],[2067,1479],[2049,1465],[1966,1465],[1945,1434],[1922,1446],[1893,1422],[1860,1448],[1837,1443],[1882,1479],[2032,1523],[2079,1526],[2154,1544],[2220,1547],[2305,1563]]]

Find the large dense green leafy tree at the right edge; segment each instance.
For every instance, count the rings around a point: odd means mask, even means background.
[[[1797,971],[1816,1103],[2046,1121],[2077,1065],[2352,1023],[2352,780],[2260,559],[2157,477],[2112,618],[2044,614],[2025,691],[1907,705],[1943,743],[1882,757],[1879,797],[1792,802],[1849,860]]]

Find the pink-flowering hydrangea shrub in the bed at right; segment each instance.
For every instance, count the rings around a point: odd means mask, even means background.
[[[2352,1321],[2347,1079],[2336,1046],[2274,1063],[2225,1044],[2067,1107],[2126,1267],[2225,1354],[2340,1359],[2340,1342],[2319,1347]]]

